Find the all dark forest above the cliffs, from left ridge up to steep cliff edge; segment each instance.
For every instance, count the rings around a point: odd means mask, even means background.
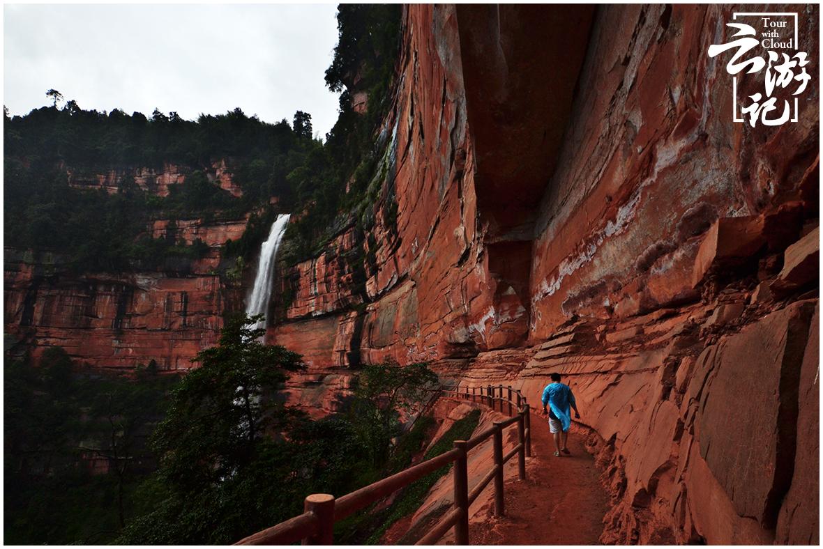
[[[76,272],[160,269],[169,258],[194,259],[206,248],[151,238],[152,219],[238,219],[255,212],[249,235],[225,254],[248,260],[273,220],[269,201],[276,197],[279,210],[300,214],[286,236],[286,260],[311,256],[369,204],[364,194],[379,156],[374,134],[388,108],[400,12],[398,5],[339,7],[339,42],[326,81],[341,92],[341,110],[324,142],[313,138],[311,116],[301,111],[291,126],[262,122],[239,108],[188,121],[159,110],[151,117],[84,110],[49,90],[51,105],[26,116],[5,113],[6,245],[56,251]],[[368,93],[365,114],[351,107],[354,90]],[[204,172],[222,160],[242,197],[207,179]],[[169,196],[133,182],[135,169],[158,171],[164,164],[188,172]],[[124,176],[114,194],[68,185],[69,173],[93,178],[111,171]]]

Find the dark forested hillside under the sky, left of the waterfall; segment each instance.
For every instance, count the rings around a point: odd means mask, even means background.
[[[69,102],[6,118],[6,245],[57,251],[77,272],[154,269],[169,257],[197,258],[206,247],[146,234],[151,219],[238,219],[267,211],[272,196],[290,207],[286,176],[322,147],[305,130],[295,132],[285,121],[260,122],[239,109],[202,115],[198,122],[172,115],[98,113]],[[310,124],[305,113],[295,120]],[[203,172],[221,159],[230,159],[242,197]],[[170,186],[165,197],[137,187],[136,168],[160,170],[164,163],[187,166],[185,182]],[[68,169],[90,178],[114,170],[124,174],[123,182],[114,194],[70,187]]]

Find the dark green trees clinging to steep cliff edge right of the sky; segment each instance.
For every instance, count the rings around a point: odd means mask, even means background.
[[[319,254],[352,219],[362,226],[364,210],[374,208],[374,197],[367,191],[387,146],[379,130],[391,105],[401,14],[397,4],[337,8],[338,42],[326,83],[341,92],[340,115],[323,147],[313,150],[306,164],[288,176],[295,201],[305,213],[289,224],[283,249],[287,264]],[[355,109],[357,94],[367,98],[365,113]]]

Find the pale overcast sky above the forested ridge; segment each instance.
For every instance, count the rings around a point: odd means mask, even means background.
[[[196,119],[236,107],[265,122],[337,121],[323,81],[337,44],[328,5],[6,5],[3,104],[12,115],[58,90],[81,108]]]

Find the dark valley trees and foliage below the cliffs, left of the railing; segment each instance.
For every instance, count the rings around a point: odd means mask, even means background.
[[[255,320],[228,322],[183,378],[152,364],[131,381],[81,374],[59,348],[8,365],[6,540],[231,543],[300,514],[310,493],[342,495],[420,454],[437,381],[424,364],[365,367],[341,412],[313,421],[281,394],[300,355],[260,343]],[[396,519],[375,516],[341,536],[365,542]]]

